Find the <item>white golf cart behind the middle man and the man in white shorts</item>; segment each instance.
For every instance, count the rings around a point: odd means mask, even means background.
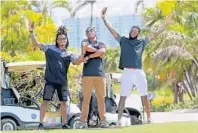
[[[106,74],[106,97],[105,97],[105,105],[106,105],[106,120],[110,126],[115,126],[117,121],[118,114],[118,96],[113,93],[112,86],[112,77],[111,73]],[[82,88],[79,91],[79,108],[82,109],[83,95]],[[135,124],[143,123],[143,107],[141,98],[138,95],[132,96],[132,105],[127,104],[123,111],[122,115],[122,126],[130,126]],[[97,106],[97,98],[95,91],[92,91],[92,96],[89,105],[89,113],[88,113],[88,127],[98,127],[98,123],[100,121],[98,106]]]

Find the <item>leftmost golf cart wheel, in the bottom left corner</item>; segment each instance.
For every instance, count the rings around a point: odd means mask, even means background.
[[[3,131],[13,131],[17,129],[17,124],[12,119],[2,119],[1,120],[1,130]]]

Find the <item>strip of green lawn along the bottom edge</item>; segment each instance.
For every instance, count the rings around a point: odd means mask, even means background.
[[[198,133],[198,122],[174,122],[125,127],[121,129],[82,129],[82,130],[27,130],[4,133]]]

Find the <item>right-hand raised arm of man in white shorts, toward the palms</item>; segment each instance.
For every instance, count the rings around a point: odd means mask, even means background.
[[[150,42],[151,40],[153,40],[155,37],[157,37],[160,33],[162,33],[166,27],[171,23],[171,20],[172,20],[172,17],[173,17],[173,14],[170,14],[166,20],[165,20],[165,23],[159,27],[157,29],[157,31],[151,33],[149,36],[148,36],[148,41]]]

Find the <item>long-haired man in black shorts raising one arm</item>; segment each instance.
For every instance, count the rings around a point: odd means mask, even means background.
[[[47,104],[52,100],[55,90],[59,97],[61,105],[62,115],[62,128],[69,128],[67,125],[67,110],[66,101],[68,96],[68,82],[67,71],[72,62],[74,65],[79,65],[84,56],[81,55],[78,58],[71,54],[67,48],[69,46],[69,40],[67,31],[64,26],[60,26],[57,34],[55,44],[46,45],[37,41],[34,35],[34,24],[29,21],[29,32],[32,43],[45,52],[46,57],[46,70],[45,70],[45,87],[43,94],[43,102],[40,109],[40,124],[38,129],[44,129],[43,119],[45,116]]]

